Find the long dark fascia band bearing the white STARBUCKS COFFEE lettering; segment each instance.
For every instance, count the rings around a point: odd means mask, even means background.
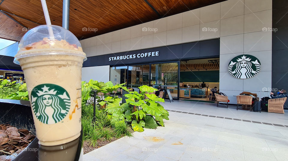
[[[197,58],[211,58],[219,57],[220,54],[220,40],[204,40],[199,42],[191,42],[170,46],[155,47],[149,49],[141,49],[128,52],[120,52],[114,54],[106,54],[89,57],[83,63],[83,67],[102,66],[102,65],[129,65],[138,63],[151,63],[160,61],[173,61]],[[159,52],[158,56],[152,56],[150,52]],[[200,52],[202,54],[200,54]],[[141,54],[146,53],[146,57],[140,57]],[[148,56],[150,53],[150,56]],[[142,54],[142,55],[143,55]],[[123,56],[129,56],[129,59],[123,59]],[[121,59],[122,56],[122,59]],[[118,59],[119,60],[114,60]],[[121,59],[121,60],[120,60]]]

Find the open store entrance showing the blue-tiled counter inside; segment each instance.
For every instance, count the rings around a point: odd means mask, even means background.
[[[180,62],[180,99],[215,101],[214,91],[219,90],[219,58]]]

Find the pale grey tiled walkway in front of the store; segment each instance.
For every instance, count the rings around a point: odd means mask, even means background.
[[[190,101],[163,103],[170,112],[165,127],[134,132],[84,155],[85,161],[287,161],[288,127],[230,120],[288,125],[286,114],[216,108]]]

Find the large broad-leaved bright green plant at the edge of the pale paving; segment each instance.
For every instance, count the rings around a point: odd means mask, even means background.
[[[140,86],[141,93],[129,91],[123,86],[121,88],[128,92],[125,94],[126,103],[120,103],[121,98],[107,99],[105,102],[107,104],[105,111],[111,115],[112,124],[125,120],[131,122],[134,131],[142,132],[144,127],[155,129],[164,126],[163,119],[169,120],[169,112],[158,103],[164,102],[164,99],[149,94],[156,91],[155,88],[147,85]]]

